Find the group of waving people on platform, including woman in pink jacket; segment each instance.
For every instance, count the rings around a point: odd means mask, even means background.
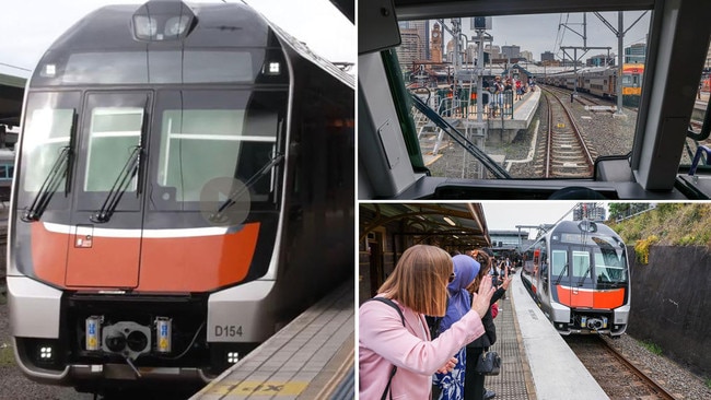
[[[359,310],[359,398],[496,397],[475,366],[497,341],[497,302],[512,269],[489,249],[405,250],[375,301]]]

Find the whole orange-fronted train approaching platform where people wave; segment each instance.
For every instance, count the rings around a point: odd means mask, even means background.
[[[586,220],[559,222],[525,251],[521,275],[560,334],[617,337],[627,330],[627,248],[608,226]]]

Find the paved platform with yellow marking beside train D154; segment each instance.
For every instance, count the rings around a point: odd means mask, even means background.
[[[354,298],[346,282],[190,399],[353,399]]]

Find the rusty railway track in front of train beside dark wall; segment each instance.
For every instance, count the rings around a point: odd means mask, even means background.
[[[587,334],[564,340],[610,399],[674,399],[603,338]]]

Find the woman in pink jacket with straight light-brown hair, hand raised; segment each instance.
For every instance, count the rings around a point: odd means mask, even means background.
[[[447,283],[454,278],[452,258],[434,246],[418,245],[403,252],[397,266],[378,290],[378,295],[394,301],[403,311],[381,302],[368,302],[359,310],[359,399],[383,397],[393,365],[397,373],[388,399],[429,399],[432,374],[452,369],[453,355],[465,344],[483,334],[481,317],[489,309],[493,294],[486,279],[471,310],[435,340],[424,315],[444,316]]]

